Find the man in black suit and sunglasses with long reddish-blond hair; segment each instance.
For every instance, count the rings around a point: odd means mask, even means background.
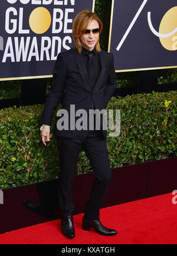
[[[116,89],[113,54],[100,49],[99,35],[103,25],[94,12],[84,10],[77,14],[73,22],[75,48],[58,54],[55,63],[51,91],[40,119],[41,138],[44,145],[50,141],[50,125],[58,103],[68,111],[68,129],[60,129],[60,114],[55,128],[60,152],[60,173],[58,202],[62,210],[61,226],[67,238],[74,238],[73,223],[73,177],[76,174],[78,155],[81,148],[86,152],[96,177],[86,204],[83,229],[94,228],[101,235],[115,235],[117,231],[103,226],[99,210],[112,177],[106,146],[104,118],[100,129],[96,129],[96,118],[91,118],[93,129],[71,128],[70,118],[83,109],[90,118],[89,110],[105,109]],[[71,105],[75,112],[71,113]],[[95,116],[94,116],[95,117]],[[76,116],[76,122],[78,116]],[[75,123],[76,124],[76,123]]]

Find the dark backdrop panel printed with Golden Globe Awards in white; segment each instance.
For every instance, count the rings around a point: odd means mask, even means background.
[[[58,53],[74,46],[73,19],[93,0],[3,0],[0,80],[49,77]]]

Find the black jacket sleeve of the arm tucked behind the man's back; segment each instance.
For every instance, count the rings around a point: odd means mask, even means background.
[[[111,59],[109,63],[109,73],[107,77],[107,85],[106,89],[104,91],[104,107],[106,108],[107,103],[110,101],[110,99],[113,96],[114,90],[117,88],[117,82],[116,82],[116,73],[114,70],[114,57],[113,54],[111,54]]]

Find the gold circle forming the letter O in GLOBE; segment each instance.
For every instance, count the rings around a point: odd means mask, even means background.
[[[45,33],[51,24],[51,15],[48,9],[44,7],[35,8],[30,14],[29,24],[34,33]]]

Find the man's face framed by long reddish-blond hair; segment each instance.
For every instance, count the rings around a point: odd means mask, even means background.
[[[87,25],[86,30],[90,30],[89,34],[83,34],[80,37],[81,45],[87,50],[91,51],[95,47],[97,41],[99,40],[99,32],[93,34],[92,30],[99,29],[99,23],[93,20]]]

